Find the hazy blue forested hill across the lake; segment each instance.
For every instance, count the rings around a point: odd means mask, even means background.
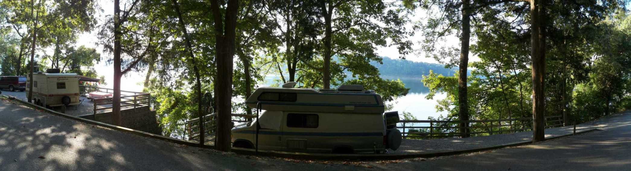
[[[445,68],[442,64],[432,64],[427,62],[414,62],[405,59],[391,59],[384,57],[384,64],[379,62],[370,62],[372,66],[379,69],[379,73],[382,76],[401,76],[408,78],[422,78],[423,75],[427,75],[432,70],[434,73],[442,74],[444,76],[453,76],[457,72],[457,68],[449,69]]]

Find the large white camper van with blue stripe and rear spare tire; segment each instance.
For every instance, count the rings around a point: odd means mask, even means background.
[[[386,123],[384,103],[375,91],[361,85],[337,90],[294,85],[262,87],[252,93],[247,105],[264,112],[232,129],[234,147],[257,148],[258,142],[261,150],[382,153],[401,144],[401,132],[395,128],[398,114],[386,114]]]

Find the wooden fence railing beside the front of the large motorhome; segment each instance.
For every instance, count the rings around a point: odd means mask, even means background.
[[[240,117],[242,120],[232,120],[232,122],[249,122],[248,119],[256,117],[256,115],[244,115],[244,114],[232,114],[233,117]],[[204,133],[215,133],[216,129],[216,114],[204,115]],[[186,132],[189,135],[189,139],[196,139],[199,137],[199,118],[186,121]]]

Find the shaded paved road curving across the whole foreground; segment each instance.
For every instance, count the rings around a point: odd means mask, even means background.
[[[481,154],[344,165],[179,146],[0,101],[0,170],[631,170],[631,114],[594,124],[604,131]]]

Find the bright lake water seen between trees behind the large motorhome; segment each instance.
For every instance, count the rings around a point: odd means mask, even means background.
[[[437,93],[432,100],[427,100],[425,96],[430,90],[423,86],[422,78],[398,78],[396,76],[384,76],[383,78],[387,80],[399,79],[406,88],[410,88],[408,95],[396,98],[394,102],[387,102],[387,104],[394,105],[391,111],[399,111],[399,114],[410,112],[418,120],[427,120],[428,117],[439,117],[441,114],[447,114],[446,111],[437,112],[435,107],[438,104],[436,100],[444,99],[447,96],[443,93]],[[276,79],[278,79],[276,76],[267,76],[266,82],[259,86],[273,85]]]

